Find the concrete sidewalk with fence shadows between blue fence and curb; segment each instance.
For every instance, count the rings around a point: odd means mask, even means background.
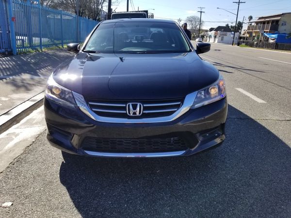
[[[73,56],[66,49],[55,49],[0,58],[0,121],[13,116],[13,109],[22,103],[37,101],[34,96],[43,95],[51,72]]]

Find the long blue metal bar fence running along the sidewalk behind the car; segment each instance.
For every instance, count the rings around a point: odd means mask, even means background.
[[[5,1],[0,0],[0,4]],[[76,31],[77,16],[39,4],[32,4],[31,1],[7,1],[8,8],[9,2],[11,2],[10,17],[12,18],[8,23],[10,23],[10,29],[14,28],[13,34],[10,36],[11,45],[12,50],[16,50],[17,53],[64,47],[66,43],[77,42],[77,38],[79,42],[82,42],[98,23],[95,20],[79,17],[79,30]],[[2,21],[2,15],[0,20]]]

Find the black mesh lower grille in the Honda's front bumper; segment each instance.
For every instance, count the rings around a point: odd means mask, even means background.
[[[185,151],[188,147],[184,140],[174,138],[162,139],[104,139],[86,137],[82,149],[93,152],[109,153],[154,153]]]

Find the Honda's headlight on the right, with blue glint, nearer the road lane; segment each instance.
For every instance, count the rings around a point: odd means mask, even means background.
[[[198,91],[191,109],[218,101],[226,96],[226,84],[222,76],[212,85]]]

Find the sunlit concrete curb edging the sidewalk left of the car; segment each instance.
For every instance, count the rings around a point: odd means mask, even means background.
[[[19,123],[33,110],[39,108],[43,104],[44,93],[45,91],[38,93],[27,101],[2,114],[0,116],[0,134]]]

